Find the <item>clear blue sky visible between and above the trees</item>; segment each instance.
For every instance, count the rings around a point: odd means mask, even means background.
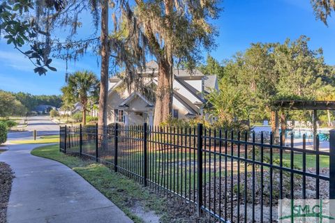
[[[322,47],[326,63],[335,65],[335,20],[329,27],[315,20],[309,0],[225,0],[224,10],[214,21],[218,27],[218,47],[211,55],[218,61],[228,59],[236,52],[244,51],[251,43],[280,42],[286,38],[295,40],[301,35],[311,38],[310,47]],[[202,52],[206,56],[207,52]],[[0,89],[24,91],[33,94],[60,94],[65,81],[65,62],[54,60],[57,72],[46,76],[34,73],[34,66],[11,45],[0,40]],[[93,70],[99,75],[96,56],[84,56],[68,65],[69,72]]]

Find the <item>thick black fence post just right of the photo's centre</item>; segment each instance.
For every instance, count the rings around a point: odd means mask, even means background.
[[[197,213],[198,216],[201,215],[201,207],[202,207],[202,124],[198,123],[198,206]]]

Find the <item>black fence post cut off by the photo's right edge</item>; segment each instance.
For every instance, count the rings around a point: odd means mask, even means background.
[[[335,217],[335,130],[329,131],[329,199],[330,216]]]

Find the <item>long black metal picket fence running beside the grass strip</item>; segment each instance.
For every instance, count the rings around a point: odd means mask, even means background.
[[[222,222],[276,222],[278,199],[335,199],[330,153],[255,132],[141,126],[61,127],[60,150],[90,157]]]

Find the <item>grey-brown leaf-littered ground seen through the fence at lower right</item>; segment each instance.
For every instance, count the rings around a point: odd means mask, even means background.
[[[229,171],[228,171],[229,172]],[[315,173],[315,169],[308,168],[306,172]],[[234,174],[233,177],[227,176],[226,181],[225,177],[219,178],[211,177],[211,183],[207,181],[206,187],[203,188],[205,194],[204,202],[205,206],[211,207],[211,210],[216,209],[216,213],[221,212],[221,216],[225,216],[225,209],[227,210],[227,219],[231,219],[231,213],[233,216],[232,222],[244,222],[244,218],[247,218],[247,222],[251,221],[251,216],[253,215],[253,204],[255,205],[255,222],[261,222],[261,204],[263,206],[263,217],[265,222],[269,221],[269,206],[270,206],[270,177],[269,171],[263,170],[263,185],[260,183],[260,174],[261,172],[255,172],[255,191],[253,197],[253,176],[250,172],[246,175],[246,182],[244,171],[240,172],[239,184],[237,174]],[[329,176],[328,168],[320,168],[320,174],[324,176]],[[278,199],[279,191],[281,189],[279,184],[279,171],[274,170],[272,175],[272,222],[277,222],[278,217]],[[283,199],[291,199],[290,195],[290,174],[283,171]],[[215,180],[215,181],[214,181]],[[216,182],[214,184],[214,182]],[[302,188],[303,188],[303,179],[301,175],[294,174],[293,176],[294,186],[293,197],[294,199],[303,199],[302,197]],[[221,192],[220,192],[221,185]],[[239,187],[238,187],[239,185]],[[246,188],[245,188],[246,187]],[[263,187],[263,197],[261,196],[261,190]],[[316,198],[316,179],[311,177],[306,177],[306,199],[315,199]],[[239,190],[238,190],[239,189]],[[245,190],[246,190],[246,199],[245,199]],[[215,196],[214,196],[215,192]],[[239,193],[238,193],[239,192]],[[319,183],[319,193],[320,199],[329,199],[329,182],[327,180],[320,180]],[[231,206],[233,210],[231,209]],[[239,213],[237,212],[237,206],[239,206]],[[247,216],[244,215],[244,208],[246,208]],[[237,219],[239,217],[239,220]]]

